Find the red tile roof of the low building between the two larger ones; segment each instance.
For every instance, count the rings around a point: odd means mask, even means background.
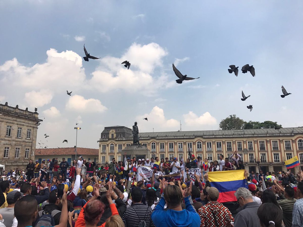
[[[36,149],[35,156],[39,155],[75,155],[74,147],[62,147],[62,148],[45,148],[45,149]],[[92,148],[83,148],[77,147],[77,155],[99,155],[98,149]]]

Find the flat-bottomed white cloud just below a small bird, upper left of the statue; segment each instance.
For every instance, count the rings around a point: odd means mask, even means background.
[[[65,105],[67,110],[73,110],[78,112],[86,113],[103,113],[107,110],[107,107],[101,104],[101,101],[98,99],[85,99],[80,95],[73,95],[68,99],[68,102]]]

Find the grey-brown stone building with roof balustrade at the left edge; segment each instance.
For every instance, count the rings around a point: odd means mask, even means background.
[[[0,104],[0,164],[5,170],[25,168],[35,160],[38,113]]]

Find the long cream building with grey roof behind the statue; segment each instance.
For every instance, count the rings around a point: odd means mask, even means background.
[[[125,132],[120,133],[121,130]],[[285,160],[298,156],[303,169],[303,128],[178,131],[139,133],[140,143],[151,151],[151,157],[195,157],[219,160],[237,151],[247,170],[263,172],[286,170]],[[122,150],[132,143],[132,130],[127,127],[105,127],[99,140],[99,160],[122,160]],[[150,158],[150,157],[149,157]],[[299,167],[293,169],[297,172]]]

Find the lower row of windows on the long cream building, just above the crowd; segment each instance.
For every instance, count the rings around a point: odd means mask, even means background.
[[[217,159],[216,160],[220,160],[220,155],[221,154],[217,154]],[[227,157],[228,159],[230,159],[230,156],[232,155],[232,153],[227,153]],[[243,157],[243,154],[239,153],[239,155],[241,157]],[[168,154],[168,158],[169,160],[171,160],[172,157],[175,157],[174,154]],[[197,154],[197,157],[203,157],[203,154]],[[266,153],[260,153],[260,162],[261,163],[266,163],[267,162],[267,154]],[[280,153],[273,153],[273,157],[274,157],[274,163],[280,163],[281,159],[280,159]],[[291,159],[293,157],[292,153],[286,153],[286,160]],[[109,160],[112,160],[114,158],[114,155],[109,155]],[[151,154],[151,158],[156,158],[156,154]],[[161,159],[165,159],[165,154],[160,154],[160,160]],[[183,158],[183,154],[178,154],[178,160],[181,160],[181,158]],[[188,157],[189,158],[189,157]],[[255,154],[254,153],[248,153],[248,158],[249,158],[249,163],[255,163]],[[213,162],[213,154],[208,153],[207,154],[207,159],[210,162]],[[299,154],[299,159],[300,159],[300,163],[303,163],[303,153]],[[203,160],[203,158],[202,158]],[[101,161],[102,163],[105,163],[105,156],[101,156]],[[118,161],[121,161],[121,156],[118,156]]]

